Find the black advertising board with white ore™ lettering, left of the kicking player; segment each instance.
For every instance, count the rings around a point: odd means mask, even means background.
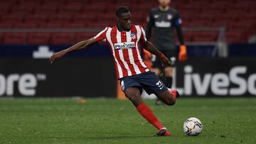
[[[0,96],[116,96],[112,57],[0,59]]]

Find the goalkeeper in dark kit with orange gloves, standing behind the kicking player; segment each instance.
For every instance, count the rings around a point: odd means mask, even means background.
[[[184,45],[181,30],[181,18],[175,9],[169,7],[170,3],[171,0],[159,0],[159,7],[151,9],[146,24],[146,38],[148,40],[150,39],[151,30],[154,29],[153,44],[156,45],[156,48],[159,48],[161,53],[171,60],[171,65],[163,68],[159,57],[155,55],[151,57],[153,63],[151,71],[155,72],[164,84],[166,84],[166,87],[169,88],[171,88],[173,82],[173,67],[176,60],[176,45],[174,42],[175,28],[181,44],[179,47],[178,60],[185,61],[187,59],[186,45]],[[161,104],[161,101],[157,99],[156,104]]]

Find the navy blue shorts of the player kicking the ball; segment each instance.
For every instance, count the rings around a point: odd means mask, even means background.
[[[129,87],[141,87],[145,89],[148,94],[160,94],[168,90],[164,85],[164,82],[156,77],[153,72],[144,72],[129,77],[123,77],[120,79],[122,91]]]

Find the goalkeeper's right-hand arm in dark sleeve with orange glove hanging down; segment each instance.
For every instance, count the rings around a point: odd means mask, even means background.
[[[182,33],[181,18],[178,16],[178,13],[174,20],[174,25],[176,27],[178,40],[180,42],[178,60],[185,61],[188,59],[188,57],[187,57],[186,45],[185,45],[184,37],[183,37],[183,33]]]

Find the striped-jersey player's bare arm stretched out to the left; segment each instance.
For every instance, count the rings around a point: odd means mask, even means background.
[[[63,57],[64,55],[66,55],[69,52],[73,52],[75,50],[81,50],[83,48],[87,48],[87,46],[92,45],[94,43],[97,43],[97,40],[95,40],[95,38],[90,38],[87,40],[83,40],[73,46],[71,46],[70,48],[67,48],[65,50],[61,50],[60,52],[55,52],[51,57],[50,57],[50,63],[53,63],[55,60],[60,59],[61,57]]]

